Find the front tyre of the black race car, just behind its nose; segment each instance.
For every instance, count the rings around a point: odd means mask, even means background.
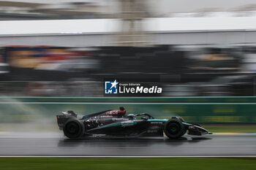
[[[178,119],[170,119],[165,123],[165,135],[170,139],[176,139],[186,133],[186,128]]]

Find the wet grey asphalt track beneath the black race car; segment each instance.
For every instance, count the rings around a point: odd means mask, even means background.
[[[181,139],[66,139],[61,133],[0,134],[0,155],[40,156],[255,156],[255,134],[184,136]]]

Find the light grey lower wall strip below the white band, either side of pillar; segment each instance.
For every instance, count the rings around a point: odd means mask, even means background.
[[[114,41],[113,34],[0,36],[0,46],[52,45],[91,47],[114,45]],[[256,44],[256,31],[154,33],[148,36],[148,41],[156,45]]]

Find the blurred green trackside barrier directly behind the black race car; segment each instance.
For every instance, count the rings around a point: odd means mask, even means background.
[[[194,123],[256,123],[256,97],[0,97],[1,122],[55,120],[63,110],[86,115],[123,106],[129,113],[184,117]]]

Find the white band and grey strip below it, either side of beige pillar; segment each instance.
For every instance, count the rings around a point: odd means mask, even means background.
[[[256,43],[256,17],[147,18],[143,28],[151,44],[197,45]],[[114,45],[117,19],[0,21],[0,46],[69,47]]]

